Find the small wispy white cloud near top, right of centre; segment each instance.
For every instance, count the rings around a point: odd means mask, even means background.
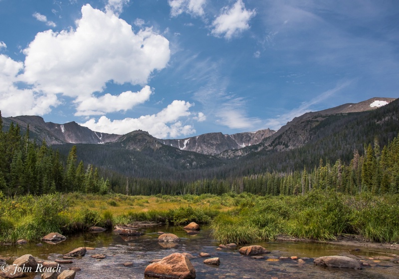
[[[249,29],[248,22],[255,14],[255,10],[246,9],[242,0],[237,0],[233,6],[221,9],[221,14],[212,22],[211,34],[216,37],[224,34],[224,38],[231,39]]]

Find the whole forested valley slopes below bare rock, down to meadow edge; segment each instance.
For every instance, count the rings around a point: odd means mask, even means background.
[[[397,193],[398,112],[396,100],[370,112],[316,114],[229,159],[167,146],[148,133],[106,144],[49,147],[29,139],[29,129],[21,136],[19,126],[11,124],[0,132],[0,191],[295,195],[331,188],[348,194]]]

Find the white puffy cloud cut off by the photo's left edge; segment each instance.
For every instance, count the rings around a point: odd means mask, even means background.
[[[3,117],[43,115],[58,105],[57,96],[16,86],[23,63],[0,54],[0,110]]]

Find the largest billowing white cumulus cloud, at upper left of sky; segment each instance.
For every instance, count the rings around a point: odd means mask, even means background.
[[[44,93],[70,97],[102,92],[106,82],[145,84],[154,70],[166,67],[169,41],[132,26],[113,13],[82,7],[76,30],[36,34],[23,53],[26,82]]]

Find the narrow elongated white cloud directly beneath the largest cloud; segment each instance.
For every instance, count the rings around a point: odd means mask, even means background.
[[[75,103],[79,104],[75,116],[104,115],[106,113],[127,111],[138,104],[146,102],[150,99],[151,94],[151,88],[147,85],[138,92],[126,91],[118,96],[105,94],[99,98],[94,96],[83,100],[78,98],[75,101]]]

